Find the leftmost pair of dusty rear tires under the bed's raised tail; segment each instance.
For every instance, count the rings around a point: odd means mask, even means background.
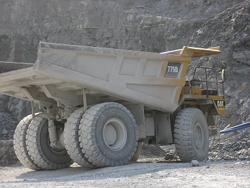
[[[42,114],[20,121],[14,134],[14,150],[20,162],[33,170],[60,169],[73,163],[65,149],[50,147],[48,120]]]

